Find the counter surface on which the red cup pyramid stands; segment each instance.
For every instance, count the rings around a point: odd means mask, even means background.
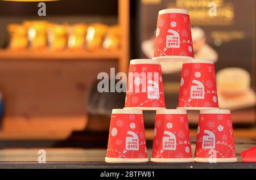
[[[256,162],[242,162],[240,153],[256,145],[249,139],[236,140],[238,162],[233,163],[154,163],[110,164],[104,162],[106,149],[45,148],[46,163],[38,163],[38,151],[33,149],[0,149],[0,168],[256,168]],[[195,143],[192,144],[195,152]],[[151,149],[148,149],[148,157]]]

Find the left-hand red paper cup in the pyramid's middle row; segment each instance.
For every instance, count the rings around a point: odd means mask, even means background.
[[[161,66],[152,59],[130,61],[125,108],[165,109]]]

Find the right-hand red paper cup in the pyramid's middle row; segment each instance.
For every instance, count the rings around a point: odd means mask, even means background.
[[[218,109],[214,64],[209,59],[184,61],[177,109]]]

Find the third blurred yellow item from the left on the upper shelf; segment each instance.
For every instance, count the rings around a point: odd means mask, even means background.
[[[49,24],[48,25],[48,42],[51,50],[64,50],[67,48],[68,25]]]

